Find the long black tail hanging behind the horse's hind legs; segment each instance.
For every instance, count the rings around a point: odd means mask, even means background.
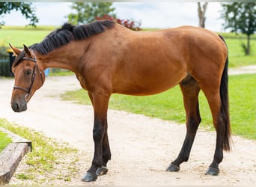
[[[224,38],[219,35],[219,37],[223,40],[225,43]],[[227,44],[225,43],[226,47]],[[228,47],[227,47],[228,49]],[[225,129],[225,136],[223,141],[223,149],[224,150],[231,150],[231,122],[229,117],[229,101],[228,101],[228,55],[225,61],[225,67],[222,73],[222,80],[220,85],[220,96],[222,101],[222,107],[221,107],[221,114],[224,118],[224,129]]]

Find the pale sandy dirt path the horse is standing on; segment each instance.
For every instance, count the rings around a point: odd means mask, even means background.
[[[216,133],[199,128],[189,162],[180,165],[179,172],[170,173],[165,168],[177,157],[186,126],[115,110],[109,110],[108,113],[112,150],[109,173],[98,177],[96,182],[84,183],[80,179],[90,167],[94,151],[93,109],[88,105],[77,105],[59,98],[59,94],[64,91],[80,88],[75,76],[47,77],[43,88],[37,91],[28,104],[28,110],[22,113],[14,113],[10,108],[13,79],[0,79],[0,85],[0,117],[43,132],[58,141],[69,142],[71,147],[79,149],[79,162],[74,166],[78,167],[79,174],[70,183],[64,184],[256,185],[256,141],[233,136],[233,150],[224,153],[223,162],[219,165],[219,176],[207,176],[204,173],[213,159]],[[20,167],[22,165],[18,169]],[[13,178],[10,181],[12,184],[15,184]]]

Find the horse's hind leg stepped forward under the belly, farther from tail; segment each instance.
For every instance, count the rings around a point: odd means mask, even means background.
[[[180,164],[188,161],[195,134],[201,122],[198,104],[198,93],[200,91],[198,82],[189,76],[180,83],[180,89],[183,93],[183,102],[186,109],[186,138],[179,156],[171,162],[167,171],[179,171]]]

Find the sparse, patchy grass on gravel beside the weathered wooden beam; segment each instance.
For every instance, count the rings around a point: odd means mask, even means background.
[[[20,180],[19,185],[42,185],[52,180],[70,181],[77,174],[76,162],[78,161],[77,150],[70,148],[67,144],[60,144],[51,138],[47,138],[40,132],[35,132],[27,127],[8,123],[7,120],[0,119],[0,126],[10,132],[16,133],[32,142],[32,151],[25,155],[25,171],[16,172],[14,177]],[[68,156],[67,156],[68,155]],[[66,162],[65,157],[72,159]],[[62,174],[61,171],[66,171]],[[49,173],[56,173],[54,179],[49,179]],[[22,182],[29,180],[30,182]]]

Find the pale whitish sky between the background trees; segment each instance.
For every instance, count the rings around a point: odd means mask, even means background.
[[[62,25],[71,12],[70,2],[34,2],[38,25]],[[198,26],[196,2],[114,2],[115,13],[121,19],[141,20],[142,28],[171,28],[179,25]],[[206,28],[222,31],[220,19],[222,7],[219,2],[210,2],[206,13]],[[12,11],[0,17],[5,25],[27,25],[21,13]]]

